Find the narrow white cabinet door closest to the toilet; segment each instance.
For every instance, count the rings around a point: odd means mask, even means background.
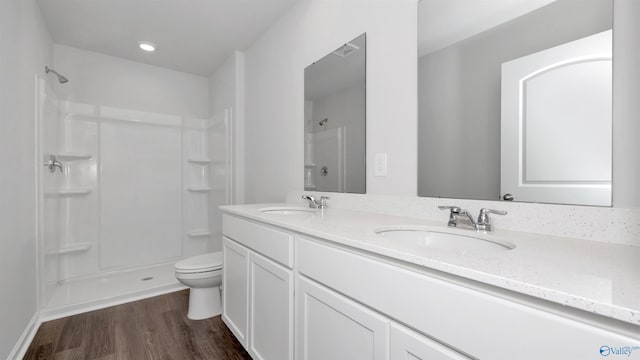
[[[249,252],[237,243],[222,240],[222,320],[247,347]]]

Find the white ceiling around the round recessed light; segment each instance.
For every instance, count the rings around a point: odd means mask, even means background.
[[[208,76],[296,0],[39,0],[53,41]],[[139,41],[156,45],[153,53]]]

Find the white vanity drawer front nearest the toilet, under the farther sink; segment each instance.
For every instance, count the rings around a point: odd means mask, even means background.
[[[248,219],[222,215],[224,236],[293,268],[293,234]]]

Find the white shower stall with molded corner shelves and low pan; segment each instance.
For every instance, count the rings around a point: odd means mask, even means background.
[[[42,317],[182,288],[173,264],[221,248],[233,109],[80,103],[56,95],[73,79],[54,74],[36,80]]]

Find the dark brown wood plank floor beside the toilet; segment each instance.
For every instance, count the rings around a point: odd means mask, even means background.
[[[188,290],[43,323],[25,359],[251,359],[220,316],[187,319]]]

